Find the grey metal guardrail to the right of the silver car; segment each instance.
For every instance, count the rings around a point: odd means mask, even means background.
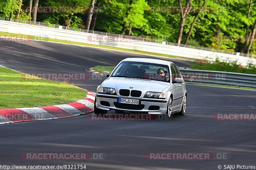
[[[186,83],[220,84],[256,88],[256,74],[192,70],[183,67],[180,67],[179,69]]]

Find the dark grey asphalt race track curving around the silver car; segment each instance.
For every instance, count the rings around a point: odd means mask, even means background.
[[[0,43],[0,64],[25,73],[84,73],[126,57],[48,42]],[[152,58],[152,57],[150,57]],[[184,60],[172,60],[189,66]],[[90,75],[91,76],[91,75]],[[95,91],[103,80],[76,81]],[[218,113],[256,113],[256,91],[186,85],[185,116],[172,120],[91,120],[90,115],[0,125],[0,165],[78,165],[87,169],[218,169],[256,166],[255,120],[215,120]],[[114,113],[114,112],[111,112]],[[99,160],[25,160],[24,153],[103,153]],[[148,153],[211,153],[212,160],[148,160]],[[224,155],[218,159],[216,155]]]

